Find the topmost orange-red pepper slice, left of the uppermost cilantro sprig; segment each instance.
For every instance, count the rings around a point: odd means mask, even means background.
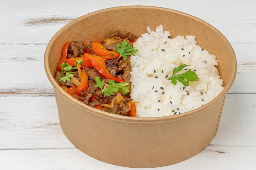
[[[120,56],[118,52],[106,50],[106,48],[102,44],[97,43],[96,41],[92,42],[91,46],[93,52],[98,56],[110,56],[111,54],[113,54],[116,59],[118,59],[118,57]]]

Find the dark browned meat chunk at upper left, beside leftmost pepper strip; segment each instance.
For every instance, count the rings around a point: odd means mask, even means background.
[[[67,58],[80,57],[85,52],[84,43],[78,41],[71,41],[68,45]]]

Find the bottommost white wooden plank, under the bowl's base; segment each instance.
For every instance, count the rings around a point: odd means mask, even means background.
[[[196,156],[159,170],[216,170],[216,169],[253,169],[256,166],[255,147],[214,147],[208,146]],[[117,158],[122,159],[122,158]],[[0,150],[1,167],[4,170],[127,170],[98,161],[78,149],[46,150]],[[140,169],[141,168],[134,168]]]

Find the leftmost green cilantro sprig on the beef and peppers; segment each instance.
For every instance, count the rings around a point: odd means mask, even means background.
[[[60,64],[61,73],[66,74],[63,77],[58,77],[60,79],[60,81],[62,81],[62,82],[70,81],[70,79],[72,79],[74,77],[74,73],[75,73],[75,72],[71,72],[70,70],[77,69],[77,64],[81,67],[81,64],[83,64],[83,63],[84,63],[84,61],[82,61],[82,59],[80,59],[80,60],[76,59],[76,62],[75,62],[76,67],[72,67],[72,65],[68,64],[67,62]]]

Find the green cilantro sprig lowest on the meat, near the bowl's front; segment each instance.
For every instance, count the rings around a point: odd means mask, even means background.
[[[96,81],[96,84],[94,87],[98,87],[101,89],[101,96],[104,95],[107,97],[110,97],[111,95],[114,95],[116,92],[120,92],[121,94],[127,94],[129,92],[129,83],[121,82],[121,83],[115,83],[114,80],[110,80],[107,86],[105,85],[104,80],[100,80],[99,77],[95,77],[94,79]]]

